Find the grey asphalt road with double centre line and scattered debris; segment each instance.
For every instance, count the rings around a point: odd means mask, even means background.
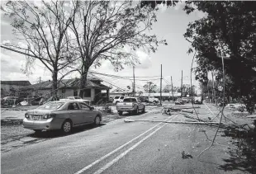
[[[205,113],[206,106],[197,111]],[[179,114],[151,112],[130,119],[149,121],[115,120],[2,153],[1,171],[6,174],[227,173],[220,167],[222,159],[228,158],[227,146],[216,146],[197,158],[211,144],[201,129],[207,129],[212,136],[216,128],[150,121],[188,120]]]

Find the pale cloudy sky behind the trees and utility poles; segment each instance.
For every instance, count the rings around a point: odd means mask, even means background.
[[[183,4],[179,4],[177,7],[159,7],[157,12],[158,21],[154,23],[152,33],[159,36],[159,39],[165,39],[168,42],[167,46],[161,45],[154,54],[145,54],[143,51],[137,51],[140,57],[140,65],[135,68],[135,76],[160,76],[160,65],[163,66],[163,76],[167,82],[171,82],[171,76],[173,77],[173,85],[180,87],[181,73],[183,70],[183,83],[190,83],[190,68],[192,63],[192,54],[187,54],[189,43],[184,39],[183,34],[187,29],[187,24],[190,21],[195,21],[203,16],[201,12],[193,12],[187,15],[183,12]],[[12,42],[12,27],[9,22],[2,17],[1,13],[1,44],[7,41]],[[7,49],[1,48],[1,80],[29,80],[32,84],[38,82],[39,78],[42,81],[50,80],[51,75],[43,64],[36,61],[35,69],[29,76],[22,73],[21,69],[26,64],[26,57],[22,54],[13,53]],[[196,64],[194,63],[194,67]],[[91,68],[91,70],[99,73],[117,74],[119,76],[132,76],[133,71],[131,67],[126,67],[122,71],[116,73],[111,63],[102,63],[101,68]],[[78,77],[77,73],[71,74],[67,78]],[[120,78],[106,78],[104,76],[98,76],[111,82],[118,87],[130,86],[130,80],[121,80]],[[194,78],[194,76],[193,76]],[[142,79],[142,78],[140,78]],[[150,78],[149,78],[150,79]],[[155,78],[151,78],[155,79]],[[154,80],[158,86],[159,80]],[[163,86],[167,84],[163,81]],[[197,82],[192,81],[195,85]],[[144,81],[135,81],[138,87],[142,87]],[[197,85],[198,86],[198,85]]]

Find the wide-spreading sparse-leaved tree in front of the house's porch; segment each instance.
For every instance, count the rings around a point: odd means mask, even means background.
[[[74,2],[72,2],[74,3]],[[75,42],[73,49],[80,55],[80,92],[87,81],[88,69],[99,67],[108,60],[117,70],[123,65],[134,65],[137,49],[155,52],[166,40],[149,35],[156,21],[154,9],[140,7],[133,1],[84,1],[79,2],[78,13],[71,18]]]

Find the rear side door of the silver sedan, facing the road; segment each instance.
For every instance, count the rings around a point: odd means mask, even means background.
[[[74,126],[83,124],[83,111],[80,109],[77,102],[69,103],[68,113],[70,119],[73,121]]]

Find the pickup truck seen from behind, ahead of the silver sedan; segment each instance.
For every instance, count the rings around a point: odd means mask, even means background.
[[[145,105],[140,102],[139,98],[126,97],[123,102],[116,104],[116,110],[119,115],[122,115],[124,111],[137,115],[139,111],[145,112]]]

